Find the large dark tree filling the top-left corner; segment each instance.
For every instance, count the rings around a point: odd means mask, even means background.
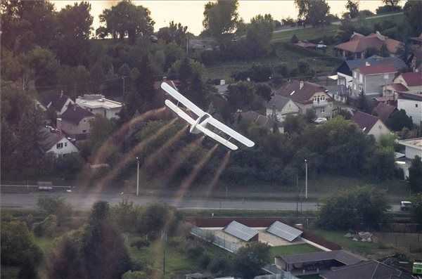
[[[54,5],[45,0],[4,0],[1,11],[1,44],[15,53],[34,45],[51,46],[56,35]]]

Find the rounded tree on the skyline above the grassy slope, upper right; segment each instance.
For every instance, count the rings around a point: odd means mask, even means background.
[[[326,0],[295,0],[295,5],[299,10],[298,18],[305,23],[312,26],[326,23],[326,16],[330,12]]]

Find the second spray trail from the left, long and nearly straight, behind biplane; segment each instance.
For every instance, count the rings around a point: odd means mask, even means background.
[[[176,122],[176,120],[177,118],[172,119],[172,121],[158,129],[155,134],[144,139],[143,141],[141,141],[141,143],[138,143],[138,145],[136,145],[134,148],[132,148],[132,150],[126,153],[126,155],[124,155],[124,158],[120,160],[117,166],[113,167],[113,170],[96,184],[96,190],[100,191],[103,188],[104,184],[110,181],[111,179],[114,179],[121,169],[126,167],[127,164],[134,162],[136,154],[140,153],[144,148],[146,148],[149,143],[155,141],[159,136],[161,136],[167,129],[169,129],[170,126],[172,126],[172,124],[174,124],[174,122]]]

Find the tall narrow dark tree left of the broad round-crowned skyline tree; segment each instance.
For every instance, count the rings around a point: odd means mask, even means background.
[[[56,51],[60,63],[76,66],[88,65],[89,36],[93,17],[87,1],[67,5],[58,12]]]

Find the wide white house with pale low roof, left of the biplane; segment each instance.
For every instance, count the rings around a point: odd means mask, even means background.
[[[103,115],[107,119],[119,118],[119,112],[123,107],[122,103],[109,100],[98,94],[85,94],[82,97],[77,97],[76,104],[96,115]]]

